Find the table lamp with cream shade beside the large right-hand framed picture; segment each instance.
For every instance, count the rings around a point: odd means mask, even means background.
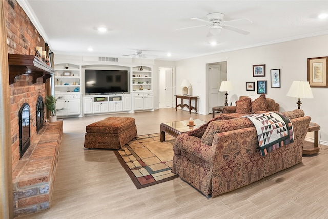
[[[313,99],[310,84],[307,81],[293,81],[292,86],[290,87],[286,96],[298,98],[298,101],[296,102],[298,109],[301,108],[302,104],[300,98]]]

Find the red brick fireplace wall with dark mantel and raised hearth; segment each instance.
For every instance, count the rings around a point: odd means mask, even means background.
[[[45,101],[48,95],[46,79],[54,73],[34,58],[36,46],[45,45],[44,39],[16,1],[3,3],[9,53],[13,210],[17,217],[50,207],[63,122],[44,123],[46,116],[42,118],[36,111],[39,98]],[[33,64],[18,66],[12,57],[16,54],[32,56],[24,62]],[[20,158],[19,110],[23,104],[30,107],[30,146]],[[41,110],[46,115],[46,109],[41,107]]]

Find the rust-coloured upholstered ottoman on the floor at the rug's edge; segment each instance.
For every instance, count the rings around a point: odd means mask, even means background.
[[[86,127],[85,148],[119,149],[137,136],[134,118],[108,117]]]

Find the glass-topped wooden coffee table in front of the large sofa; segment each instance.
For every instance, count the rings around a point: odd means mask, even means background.
[[[174,122],[166,122],[160,124],[160,142],[165,141],[165,132],[173,137],[177,137],[181,133],[186,133],[196,128],[199,128],[201,125],[206,124],[206,121],[198,120],[196,118],[194,120],[195,126],[188,126],[189,120],[182,121],[174,121]]]

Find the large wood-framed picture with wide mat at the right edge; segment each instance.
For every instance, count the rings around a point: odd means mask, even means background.
[[[310,87],[328,87],[328,57],[308,58]]]

